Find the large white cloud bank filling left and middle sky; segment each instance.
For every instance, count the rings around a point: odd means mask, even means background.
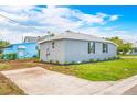
[[[87,14],[80,10],[64,7],[0,7],[0,14],[28,25],[24,27],[0,16],[0,30],[4,30],[0,38],[9,39],[11,43],[21,42],[22,35],[44,35],[46,31],[57,33],[72,30],[99,35],[103,32],[101,32],[99,27],[95,27],[94,24],[102,25],[118,19],[116,14],[109,15],[102,12]]]

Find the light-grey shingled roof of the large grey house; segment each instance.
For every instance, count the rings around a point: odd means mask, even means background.
[[[82,33],[74,33],[74,32],[65,32],[65,33],[55,35],[49,39],[41,41],[39,43],[44,43],[48,41],[55,41],[55,39],[80,39],[80,41],[95,41],[95,42],[112,43],[109,41],[106,41],[106,39],[97,37],[97,36],[88,35],[88,34],[82,34]]]

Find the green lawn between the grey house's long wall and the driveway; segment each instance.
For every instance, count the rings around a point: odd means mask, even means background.
[[[137,59],[118,59],[94,64],[53,66],[51,70],[92,81],[115,81],[137,75]]]

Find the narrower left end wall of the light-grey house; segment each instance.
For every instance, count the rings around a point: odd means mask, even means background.
[[[49,48],[50,55],[46,55]],[[64,41],[54,41],[54,48],[52,48],[52,42],[40,44],[40,59],[42,61],[56,60],[61,64],[64,63]]]

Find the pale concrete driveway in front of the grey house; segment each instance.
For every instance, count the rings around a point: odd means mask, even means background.
[[[114,84],[114,82],[93,82],[41,67],[8,70],[2,73],[27,94],[34,95],[87,95],[95,94]]]

